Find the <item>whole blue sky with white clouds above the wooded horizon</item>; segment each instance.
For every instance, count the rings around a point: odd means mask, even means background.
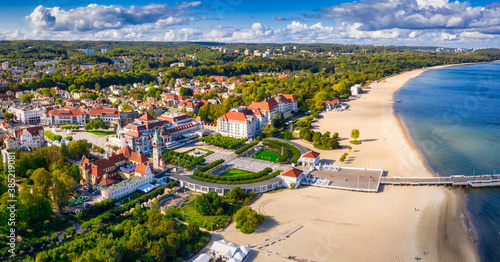
[[[0,40],[500,47],[500,4],[447,0],[0,2]]]

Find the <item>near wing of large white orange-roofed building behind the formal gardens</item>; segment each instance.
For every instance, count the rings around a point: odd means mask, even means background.
[[[262,134],[267,113],[257,108],[236,107],[217,119],[217,132],[223,136],[254,139]]]

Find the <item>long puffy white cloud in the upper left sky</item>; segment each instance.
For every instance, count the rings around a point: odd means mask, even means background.
[[[187,22],[188,19],[183,16],[189,13],[185,10],[200,4],[201,2],[183,2],[175,6],[149,4],[129,7],[90,4],[68,11],[60,7],[38,6],[26,16],[26,20],[34,30],[46,31],[101,31],[146,23],[159,23],[164,27]]]

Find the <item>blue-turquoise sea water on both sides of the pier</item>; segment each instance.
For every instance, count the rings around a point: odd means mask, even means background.
[[[427,71],[394,100],[436,174],[500,173],[500,61]],[[500,261],[500,188],[468,189],[467,209],[482,261]]]

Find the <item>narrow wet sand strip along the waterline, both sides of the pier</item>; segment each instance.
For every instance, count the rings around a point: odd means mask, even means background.
[[[486,62],[481,62],[481,63],[486,63]],[[422,163],[424,164],[424,166],[435,177],[439,177],[439,174],[432,169],[432,167],[427,162],[427,160],[426,160],[425,156],[423,155],[422,151],[420,150],[420,148],[413,141],[413,138],[412,138],[412,136],[410,134],[410,131],[408,130],[408,128],[406,126],[404,118],[396,113],[396,110],[395,110],[395,105],[396,104],[394,103],[394,97],[397,95],[397,93],[399,92],[399,90],[406,85],[406,83],[408,81],[410,81],[411,79],[413,79],[415,77],[420,76],[421,74],[423,74],[423,73],[425,73],[427,71],[435,70],[435,69],[441,69],[441,68],[447,68],[447,67],[452,67],[452,66],[474,65],[474,64],[480,64],[480,63],[478,62],[478,63],[465,63],[465,64],[451,64],[451,65],[442,65],[442,66],[435,66],[435,67],[425,68],[425,70],[423,70],[417,76],[414,76],[414,77],[406,79],[406,81],[401,86],[397,87],[396,90],[392,94],[392,100],[393,100],[393,104],[391,106],[392,114],[393,114],[394,118],[398,121],[398,123],[400,124],[399,125],[400,131],[403,133],[404,138],[406,140],[406,143],[408,145],[410,145],[410,147],[412,147],[413,150],[415,150],[416,152],[418,152],[418,156],[419,156],[420,160],[422,161]],[[419,69],[416,69],[416,70],[419,70]],[[479,234],[478,234],[478,232],[476,230],[476,227],[474,225],[474,221],[472,220],[472,217],[470,216],[468,208],[467,208],[467,195],[466,195],[466,192],[463,189],[461,189],[460,191],[461,192],[459,194],[457,194],[457,196],[459,198],[459,202],[461,203],[460,209],[461,209],[461,213],[462,213],[463,227],[464,227],[464,229],[466,231],[466,234],[469,237],[469,239],[471,241],[473,241],[473,240],[477,241],[477,239],[479,238]],[[474,257],[475,257],[476,261],[481,261],[481,259],[480,259],[481,255],[479,254],[479,248],[478,248],[477,245],[474,245],[474,247],[475,247],[474,248],[475,249]]]

